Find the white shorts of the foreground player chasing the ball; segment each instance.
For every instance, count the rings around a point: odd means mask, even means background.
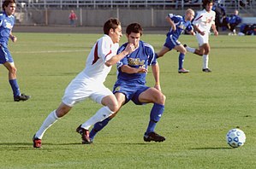
[[[63,103],[69,107],[73,107],[74,104],[84,101],[89,97],[94,102],[101,104],[104,96],[110,95],[113,95],[112,91],[106,88],[103,83],[97,83],[92,79],[88,79],[86,75],[81,72],[66,88]]]

